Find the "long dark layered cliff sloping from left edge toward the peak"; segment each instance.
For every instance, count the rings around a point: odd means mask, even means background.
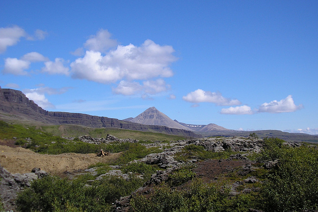
[[[53,125],[81,125],[91,128],[121,128],[126,130],[151,131],[170,135],[180,135],[196,138],[192,131],[172,129],[165,126],[143,125],[127,121],[120,121],[107,117],[91,116],[82,113],[50,112],[43,110],[32,100],[29,100],[21,91],[1,89],[0,111],[6,114],[18,115],[29,120]]]

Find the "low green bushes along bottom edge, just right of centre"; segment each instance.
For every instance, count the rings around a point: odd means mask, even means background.
[[[248,207],[257,207],[256,193],[229,198],[230,191],[225,182],[204,183],[195,178],[181,191],[163,184],[149,198],[134,197],[131,205],[136,212],[247,212]]]

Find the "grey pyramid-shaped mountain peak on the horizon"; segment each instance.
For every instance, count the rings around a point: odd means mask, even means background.
[[[130,120],[133,123],[139,123],[144,125],[160,125],[166,126],[169,128],[183,129],[183,130],[191,130],[185,126],[176,123],[172,119],[170,119],[167,115],[161,113],[157,108],[151,107],[145,110],[143,113],[139,114],[134,119]]]

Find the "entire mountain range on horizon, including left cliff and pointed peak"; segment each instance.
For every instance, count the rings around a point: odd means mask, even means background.
[[[277,137],[285,141],[318,142],[317,135],[286,133],[277,130],[235,131],[216,124],[193,125],[172,120],[155,107],[148,108],[135,118],[118,120],[108,117],[91,116],[82,113],[50,112],[43,110],[21,91],[0,87],[0,119],[25,123],[50,125],[81,125],[91,128],[121,128],[127,130],[149,131],[187,138],[210,136],[249,136],[255,133],[259,138]]]

